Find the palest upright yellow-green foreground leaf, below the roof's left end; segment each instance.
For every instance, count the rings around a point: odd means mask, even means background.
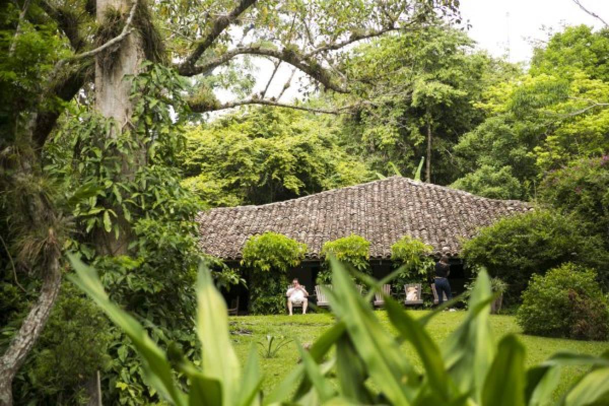
[[[239,362],[228,332],[224,298],[214,287],[211,273],[204,265],[199,267],[197,282],[197,334],[201,341],[203,374],[222,384],[225,405],[234,404],[239,389]]]

